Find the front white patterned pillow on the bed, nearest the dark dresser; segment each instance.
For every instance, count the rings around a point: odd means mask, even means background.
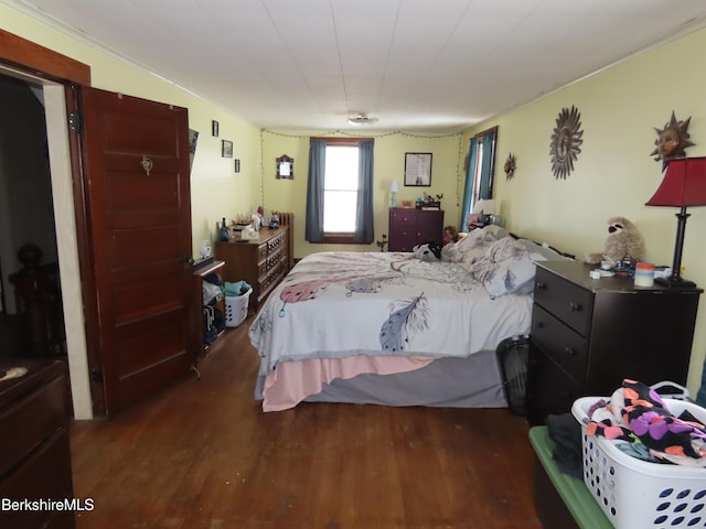
[[[545,260],[538,255],[534,257],[525,245],[503,237],[471,266],[470,271],[491,299],[514,292],[530,293],[534,289],[534,261]]]

